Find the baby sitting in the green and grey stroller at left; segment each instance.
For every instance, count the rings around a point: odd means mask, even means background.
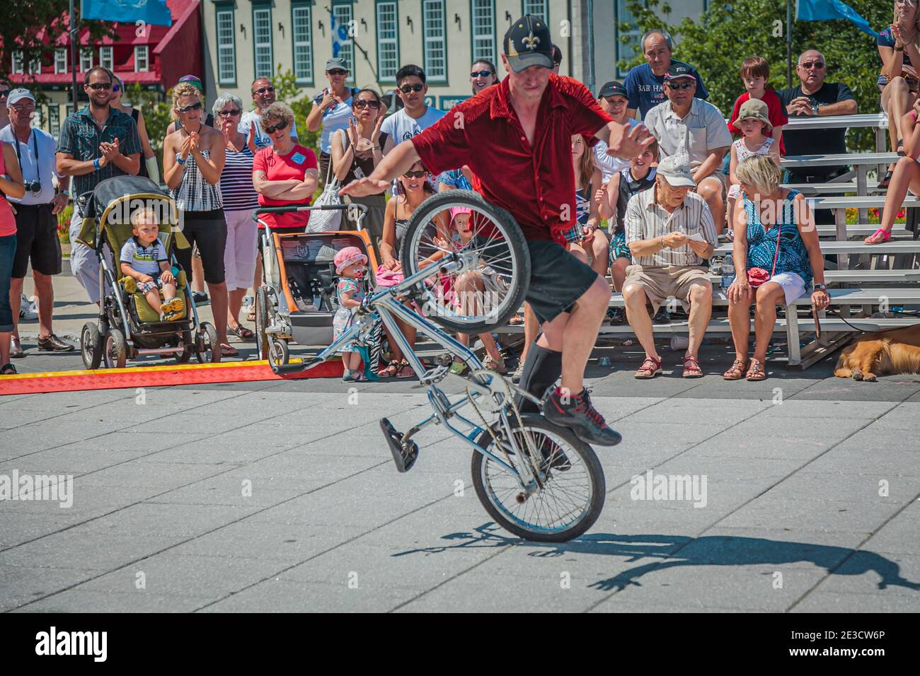
[[[133,237],[121,247],[121,273],[137,281],[137,290],[161,322],[171,322],[185,313],[185,302],[176,295],[176,278],[169,265],[166,247],[159,240],[159,224],[152,209],[131,214]],[[166,299],[160,303],[160,290]]]

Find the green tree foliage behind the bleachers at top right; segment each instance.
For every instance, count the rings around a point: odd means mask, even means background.
[[[866,17],[876,30],[891,23],[891,2],[879,0],[847,0],[859,14]],[[661,0],[630,0],[633,24],[622,24],[624,31],[663,28],[675,40],[674,58],[692,63],[703,76],[709,90],[709,101],[728,116],[734,101],[743,91],[742,61],[753,55],[763,56],[770,63],[769,86],[787,86],[786,59],[786,0],[710,0],[709,8],[695,20],[684,18],[671,23],[671,6]],[[795,17],[793,9],[793,17]],[[623,36],[624,44],[635,40]],[[638,43],[633,42],[637,47]],[[881,61],[875,40],[861,32],[849,21],[794,21],[792,29],[793,63],[799,53],[818,49],[827,61],[827,80],[843,82],[857,98],[859,112],[879,111],[879,90],[876,79]],[[639,52],[632,62],[621,62],[628,68],[644,59]],[[792,72],[793,86],[799,79]],[[853,129],[847,134],[847,144],[853,150],[875,147],[875,136],[869,129]]]

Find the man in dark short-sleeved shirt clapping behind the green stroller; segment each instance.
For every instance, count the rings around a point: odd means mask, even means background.
[[[99,302],[99,261],[88,246],[76,241],[83,224],[77,198],[99,181],[115,176],[136,176],[141,167],[141,139],[131,115],[109,106],[111,75],[91,68],[83,79],[89,105],[63,121],[56,149],[57,169],[71,180],[74,217],[70,222],[70,270],[93,303]]]

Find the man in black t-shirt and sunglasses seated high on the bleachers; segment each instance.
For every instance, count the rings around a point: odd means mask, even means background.
[[[826,115],[856,115],[857,101],[843,83],[824,82],[827,62],[818,50],[808,50],[799,56],[796,65],[799,86],[776,92],[790,118],[813,118]],[[783,130],[787,155],[845,155],[846,129]],[[848,166],[804,166],[789,169],[788,183],[824,183],[844,174]],[[829,196],[829,195],[828,195]],[[815,223],[834,223],[834,212],[815,210]]]

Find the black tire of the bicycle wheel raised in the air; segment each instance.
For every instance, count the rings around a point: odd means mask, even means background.
[[[447,190],[432,195],[419,205],[413,212],[402,239],[399,259],[403,271],[406,277],[415,274],[420,269],[420,260],[427,258],[438,248],[424,244],[423,239],[426,232],[433,232],[433,219],[452,207],[465,207],[487,216],[492,227],[498,231],[499,236],[489,235],[488,239],[480,237],[480,240],[486,239],[486,242],[477,243],[477,246],[470,248],[481,248],[482,253],[486,254],[481,260],[487,267],[482,269],[489,269],[489,278],[500,281],[497,285],[500,287],[500,300],[485,312],[462,315],[456,311],[452,302],[445,299],[443,289],[437,290],[437,284],[423,284],[420,285],[423,314],[449,330],[463,333],[477,334],[501,327],[521,308],[527,294],[531,270],[530,250],[520,226],[515,223],[512,215],[485,201],[478,193],[472,190]],[[436,265],[432,265],[431,268],[432,273],[438,274]],[[498,296],[494,289],[486,288],[486,291],[492,292],[493,297]]]

